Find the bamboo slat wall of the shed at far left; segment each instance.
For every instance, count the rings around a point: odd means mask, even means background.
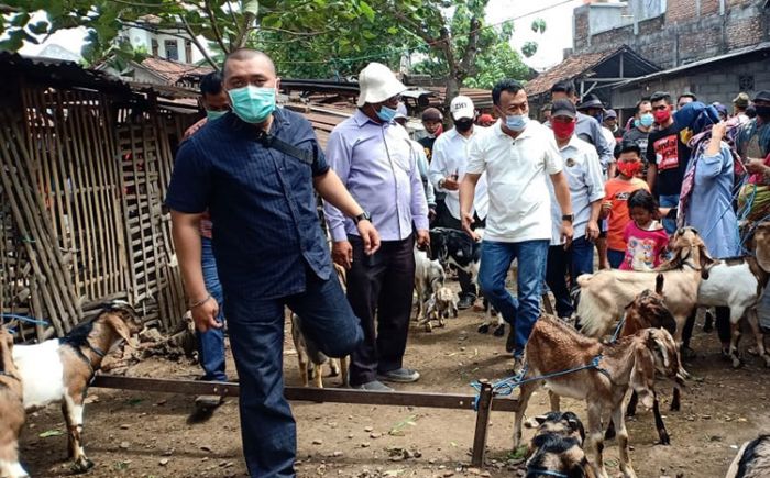
[[[185,299],[162,201],[189,115],[153,98],[21,85],[0,105],[0,310],[68,332],[111,299],[173,327]]]

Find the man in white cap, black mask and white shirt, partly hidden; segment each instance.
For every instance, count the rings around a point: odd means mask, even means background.
[[[443,133],[433,144],[433,158],[430,163],[430,181],[439,192],[446,193],[443,204],[436,213],[439,227],[462,230],[460,221],[460,182],[468,167],[468,148],[471,140],[484,130],[473,124],[476,111],[473,101],[464,96],[455,97],[449,111],[454,120],[454,127]],[[490,200],[486,196],[486,176],[482,175],[476,185],[476,194],[471,208],[474,214],[474,229],[483,227]],[[470,238],[469,238],[470,241]],[[460,281],[460,302],[458,309],[468,309],[476,300],[476,285],[471,282],[471,275],[458,270]]]

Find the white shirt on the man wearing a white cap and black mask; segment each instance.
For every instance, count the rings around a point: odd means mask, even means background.
[[[465,168],[468,167],[468,149],[471,140],[485,130],[486,127],[474,125],[471,137],[465,137],[453,127],[439,136],[436,143],[433,143],[433,151],[430,159],[430,181],[433,184],[437,191],[447,193],[443,201],[444,204],[447,204],[449,213],[452,214],[454,219],[462,219],[460,218],[460,192],[439,188],[439,181],[450,177],[453,173],[458,174],[458,181],[462,181],[463,176],[465,176]],[[486,196],[486,175],[482,175],[476,184],[476,193],[473,197],[471,214],[475,211],[479,219],[483,220],[486,218],[488,208],[490,199]]]

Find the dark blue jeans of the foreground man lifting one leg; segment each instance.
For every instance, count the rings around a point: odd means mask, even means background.
[[[264,299],[224,281],[224,298],[240,378],[241,435],[249,474],[295,477],[297,431],[284,398],[284,308],[302,318],[305,334],[331,357],[350,354],[361,342],[359,320],[333,271],[322,280],[307,269],[306,291],[278,299]]]

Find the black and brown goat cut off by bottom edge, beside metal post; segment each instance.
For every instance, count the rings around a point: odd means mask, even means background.
[[[594,477],[583,451],[585,430],[572,412],[549,412],[535,418],[535,436],[527,449],[527,477],[564,476],[569,478]]]

